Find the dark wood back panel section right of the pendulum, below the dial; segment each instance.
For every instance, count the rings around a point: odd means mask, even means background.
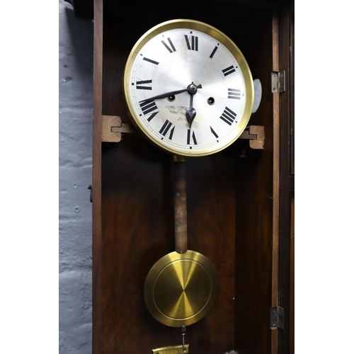
[[[188,248],[206,256],[214,264],[219,279],[214,306],[188,330],[195,353],[225,353],[234,348],[233,150],[187,161]]]

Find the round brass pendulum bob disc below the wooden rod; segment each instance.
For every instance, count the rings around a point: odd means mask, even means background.
[[[207,314],[216,296],[215,267],[195,251],[171,252],[160,258],[145,281],[147,308],[166,326],[194,324]]]

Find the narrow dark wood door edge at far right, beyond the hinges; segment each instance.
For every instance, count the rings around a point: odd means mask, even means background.
[[[279,306],[285,312],[285,329],[279,331],[278,348],[292,353],[294,343],[293,317],[293,232],[294,210],[294,14],[293,0],[282,1],[279,21],[280,69],[286,73],[286,91],[280,93],[280,252]]]

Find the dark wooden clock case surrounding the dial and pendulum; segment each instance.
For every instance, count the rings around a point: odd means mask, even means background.
[[[180,330],[157,322],[144,304],[147,273],[174,250],[172,156],[134,130],[102,142],[103,116],[130,125],[122,75],[132,46],[173,18],[209,23],[236,42],[263,85],[249,124],[265,129],[264,149],[239,139],[187,159],[188,249],[215,265],[219,292],[205,318],[188,326],[185,343],[198,354],[293,352],[292,13],[291,1],[94,1],[93,353],[148,354],[182,343]],[[280,69],[290,85],[274,93],[271,73]],[[270,329],[277,306],[285,329]]]

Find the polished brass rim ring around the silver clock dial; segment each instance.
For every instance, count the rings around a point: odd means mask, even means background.
[[[200,30],[201,32],[204,32],[207,35],[211,35],[212,37],[217,39],[225,47],[227,47],[227,49],[232,53],[232,55],[234,55],[237,62],[239,63],[241,72],[244,75],[245,86],[246,86],[246,105],[245,105],[244,115],[242,116],[239,125],[237,126],[234,139],[232,139],[232,141],[227,144],[220,145],[218,149],[215,149],[215,147],[206,149],[207,151],[204,153],[200,153],[198,150],[193,150],[193,149],[188,152],[182,153],[180,150],[173,149],[173,147],[167,148],[165,145],[162,145],[159,142],[159,139],[154,139],[149,135],[147,135],[147,133],[142,128],[141,122],[135,116],[135,111],[132,108],[133,103],[132,103],[132,97],[130,95],[129,88],[130,88],[130,72],[132,70],[132,65],[135,61],[135,57],[137,57],[139,50],[141,50],[142,47],[147,42],[149,42],[149,40],[154,38],[155,35],[158,35],[159,33],[163,33],[166,30],[171,30],[176,28],[188,28],[191,30]],[[124,88],[125,102],[127,104],[128,113],[135,127],[137,127],[137,129],[141,131],[144,134],[144,136],[147,137],[147,139],[149,139],[149,141],[153,142],[157,147],[171,154],[178,154],[181,156],[207,156],[210,154],[215,154],[229,147],[229,145],[231,145],[232,143],[234,143],[236,139],[240,137],[242,132],[244,132],[249,122],[249,118],[251,118],[253,100],[254,100],[254,89],[253,89],[253,78],[252,78],[251,70],[249,69],[249,64],[247,64],[246,59],[242,54],[241,50],[239,50],[239,47],[237,47],[237,45],[231,40],[231,38],[229,38],[227,35],[222,33],[217,28],[213,27],[212,25],[208,25],[207,23],[203,23],[200,21],[188,20],[188,19],[170,20],[164,23],[160,23],[159,25],[156,25],[150,30],[148,30],[147,33],[142,35],[142,37],[139,38],[139,40],[135,43],[135,46],[132,48],[129,57],[127,58],[123,83],[124,83],[123,88]]]

